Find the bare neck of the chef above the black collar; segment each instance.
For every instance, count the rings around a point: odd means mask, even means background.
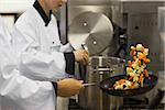
[[[45,2],[45,0],[37,0],[40,6],[43,8],[44,12],[46,13],[47,16],[50,16],[50,6]]]

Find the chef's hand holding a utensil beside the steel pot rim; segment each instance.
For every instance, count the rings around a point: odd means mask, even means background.
[[[89,62],[89,53],[85,50],[76,50],[74,51],[76,62],[87,65]]]

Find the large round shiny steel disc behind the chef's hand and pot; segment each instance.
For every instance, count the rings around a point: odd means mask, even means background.
[[[84,12],[77,15],[68,29],[68,41],[75,50],[86,44],[90,55],[98,55],[111,42],[113,26],[102,13]]]

